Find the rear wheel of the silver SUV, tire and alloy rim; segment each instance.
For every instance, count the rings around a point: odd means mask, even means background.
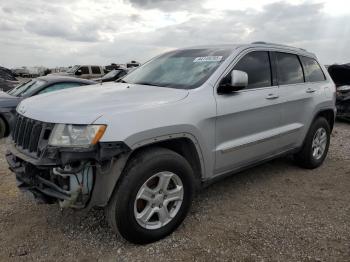
[[[318,142],[315,141],[315,139],[317,140],[316,136],[321,135],[321,133],[318,133],[318,132],[322,132],[322,133],[325,132],[324,137],[326,141],[324,144],[322,143],[323,150],[321,150],[322,148],[317,150]],[[329,143],[330,143],[330,133],[331,131],[330,131],[330,126],[328,121],[324,117],[317,118],[312,123],[306,135],[303,147],[297,154],[294,155],[294,159],[296,163],[299,166],[307,169],[314,169],[322,165],[324,159],[327,156]],[[315,146],[313,146],[313,142],[315,143]]]

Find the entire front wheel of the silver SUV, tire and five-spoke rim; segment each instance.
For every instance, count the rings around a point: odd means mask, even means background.
[[[164,190],[160,192],[160,181],[167,181],[163,177],[168,178],[170,182],[166,189],[163,187]],[[148,189],[152,190],[151,195],[147,195]],[[157,193],[154,193],[156,191]],[[182,194],[182,202],[180,195],[174,198],[170,192]],[[106,207],[106,218],[112,229],[119,232],[126,240],[135,244],[151,243],[169,235],[182,223],[190,208],[193,192],[193,171],[181,155],[160,147],[146,149],[137,153],[128,162]],[[166,194],[168,200],[165,199]],[[147,195],[149,200],[142,199],[143,195]],[[177,200],[171,202],[171,199]],[[148,215],[146,209],[153,210],[149,214],[154,212],[149,216],[149,220],[137,219],[137,216],[143,217],[140,215],[143,212]],[[172,218],[169,218],[170,215],[162,216],[162,214],[171,214]],[[166,220],[163,219],[164,223],[161,223],[161,217],[170,221],[164,222]]]

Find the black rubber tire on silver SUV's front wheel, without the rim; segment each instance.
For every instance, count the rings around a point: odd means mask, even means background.
[[[157,158],[143,162],[142,168],[135,165],[126,174],[127,177],[118,189],[116,203],[117,227],[124,238],[131,238],[133,242],[152,242],[170,234],[181,224],[190,207],[194,185],[192,169],[187,161],[181,158],[177,154],[160,155]],[[136,221],[134,202],[141,186],[150,177],[162,171],[170,171],[181,179],[184,188],[183,201],[179,211],[168,224],[159,229],[146,229]]]

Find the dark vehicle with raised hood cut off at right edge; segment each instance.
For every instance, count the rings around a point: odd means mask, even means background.
[[[337,86],[337,117],[350,120],[350,64],[331,65],[328,72]]]

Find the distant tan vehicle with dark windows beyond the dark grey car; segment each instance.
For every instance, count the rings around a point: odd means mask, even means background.
[[[105,74],[104,68],[97,65],[75,65],[67,72],[53,73],[51,75],[75,76],[78,78],[92,79],[99,78]]]

